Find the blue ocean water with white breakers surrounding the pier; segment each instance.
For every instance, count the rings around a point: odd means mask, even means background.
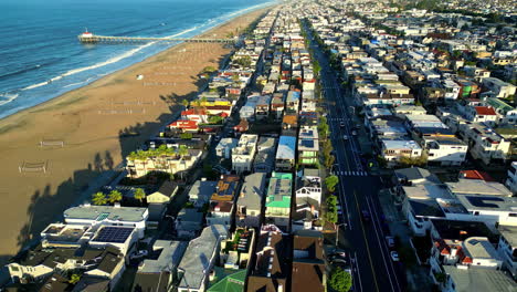
[[[202,33],[271,0],[2,0],[0,118],[84,86],[173,44],[81,44],[99,35]]]

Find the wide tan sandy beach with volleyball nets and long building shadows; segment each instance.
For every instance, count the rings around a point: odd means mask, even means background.
[[[238,17],[200,36],[242,30],[264,11]],[[194,96],[205,82],[198,77],[201,70],[218,66],[230,50],[215,43],[179,44],[1,119],[0,263],[55,221],[88,181],[122,163],[170,121],[181,101]],[[139,135],[120,137],[124,132]]]

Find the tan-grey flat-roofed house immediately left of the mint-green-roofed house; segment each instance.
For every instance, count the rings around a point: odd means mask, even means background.
[[[244,177],[236,200],[235,223],[239,227],[255,227],[261,223],[262,202],[265,197],[266,174],[255,173]]]

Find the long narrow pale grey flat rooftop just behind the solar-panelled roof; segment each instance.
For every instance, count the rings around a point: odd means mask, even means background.
[[[65,221],[83,219],[140,222],[147,219],[147,208],[82,205],[66,209],[63,217]]]

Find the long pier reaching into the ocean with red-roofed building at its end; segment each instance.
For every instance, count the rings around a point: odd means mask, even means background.
[[[97,35],[88,31],[77,35],[82,43],[144,43],[144,42],[197,42],[197,43],[236,43],[238,39],[199,39],[199,38],[141,38]]]

